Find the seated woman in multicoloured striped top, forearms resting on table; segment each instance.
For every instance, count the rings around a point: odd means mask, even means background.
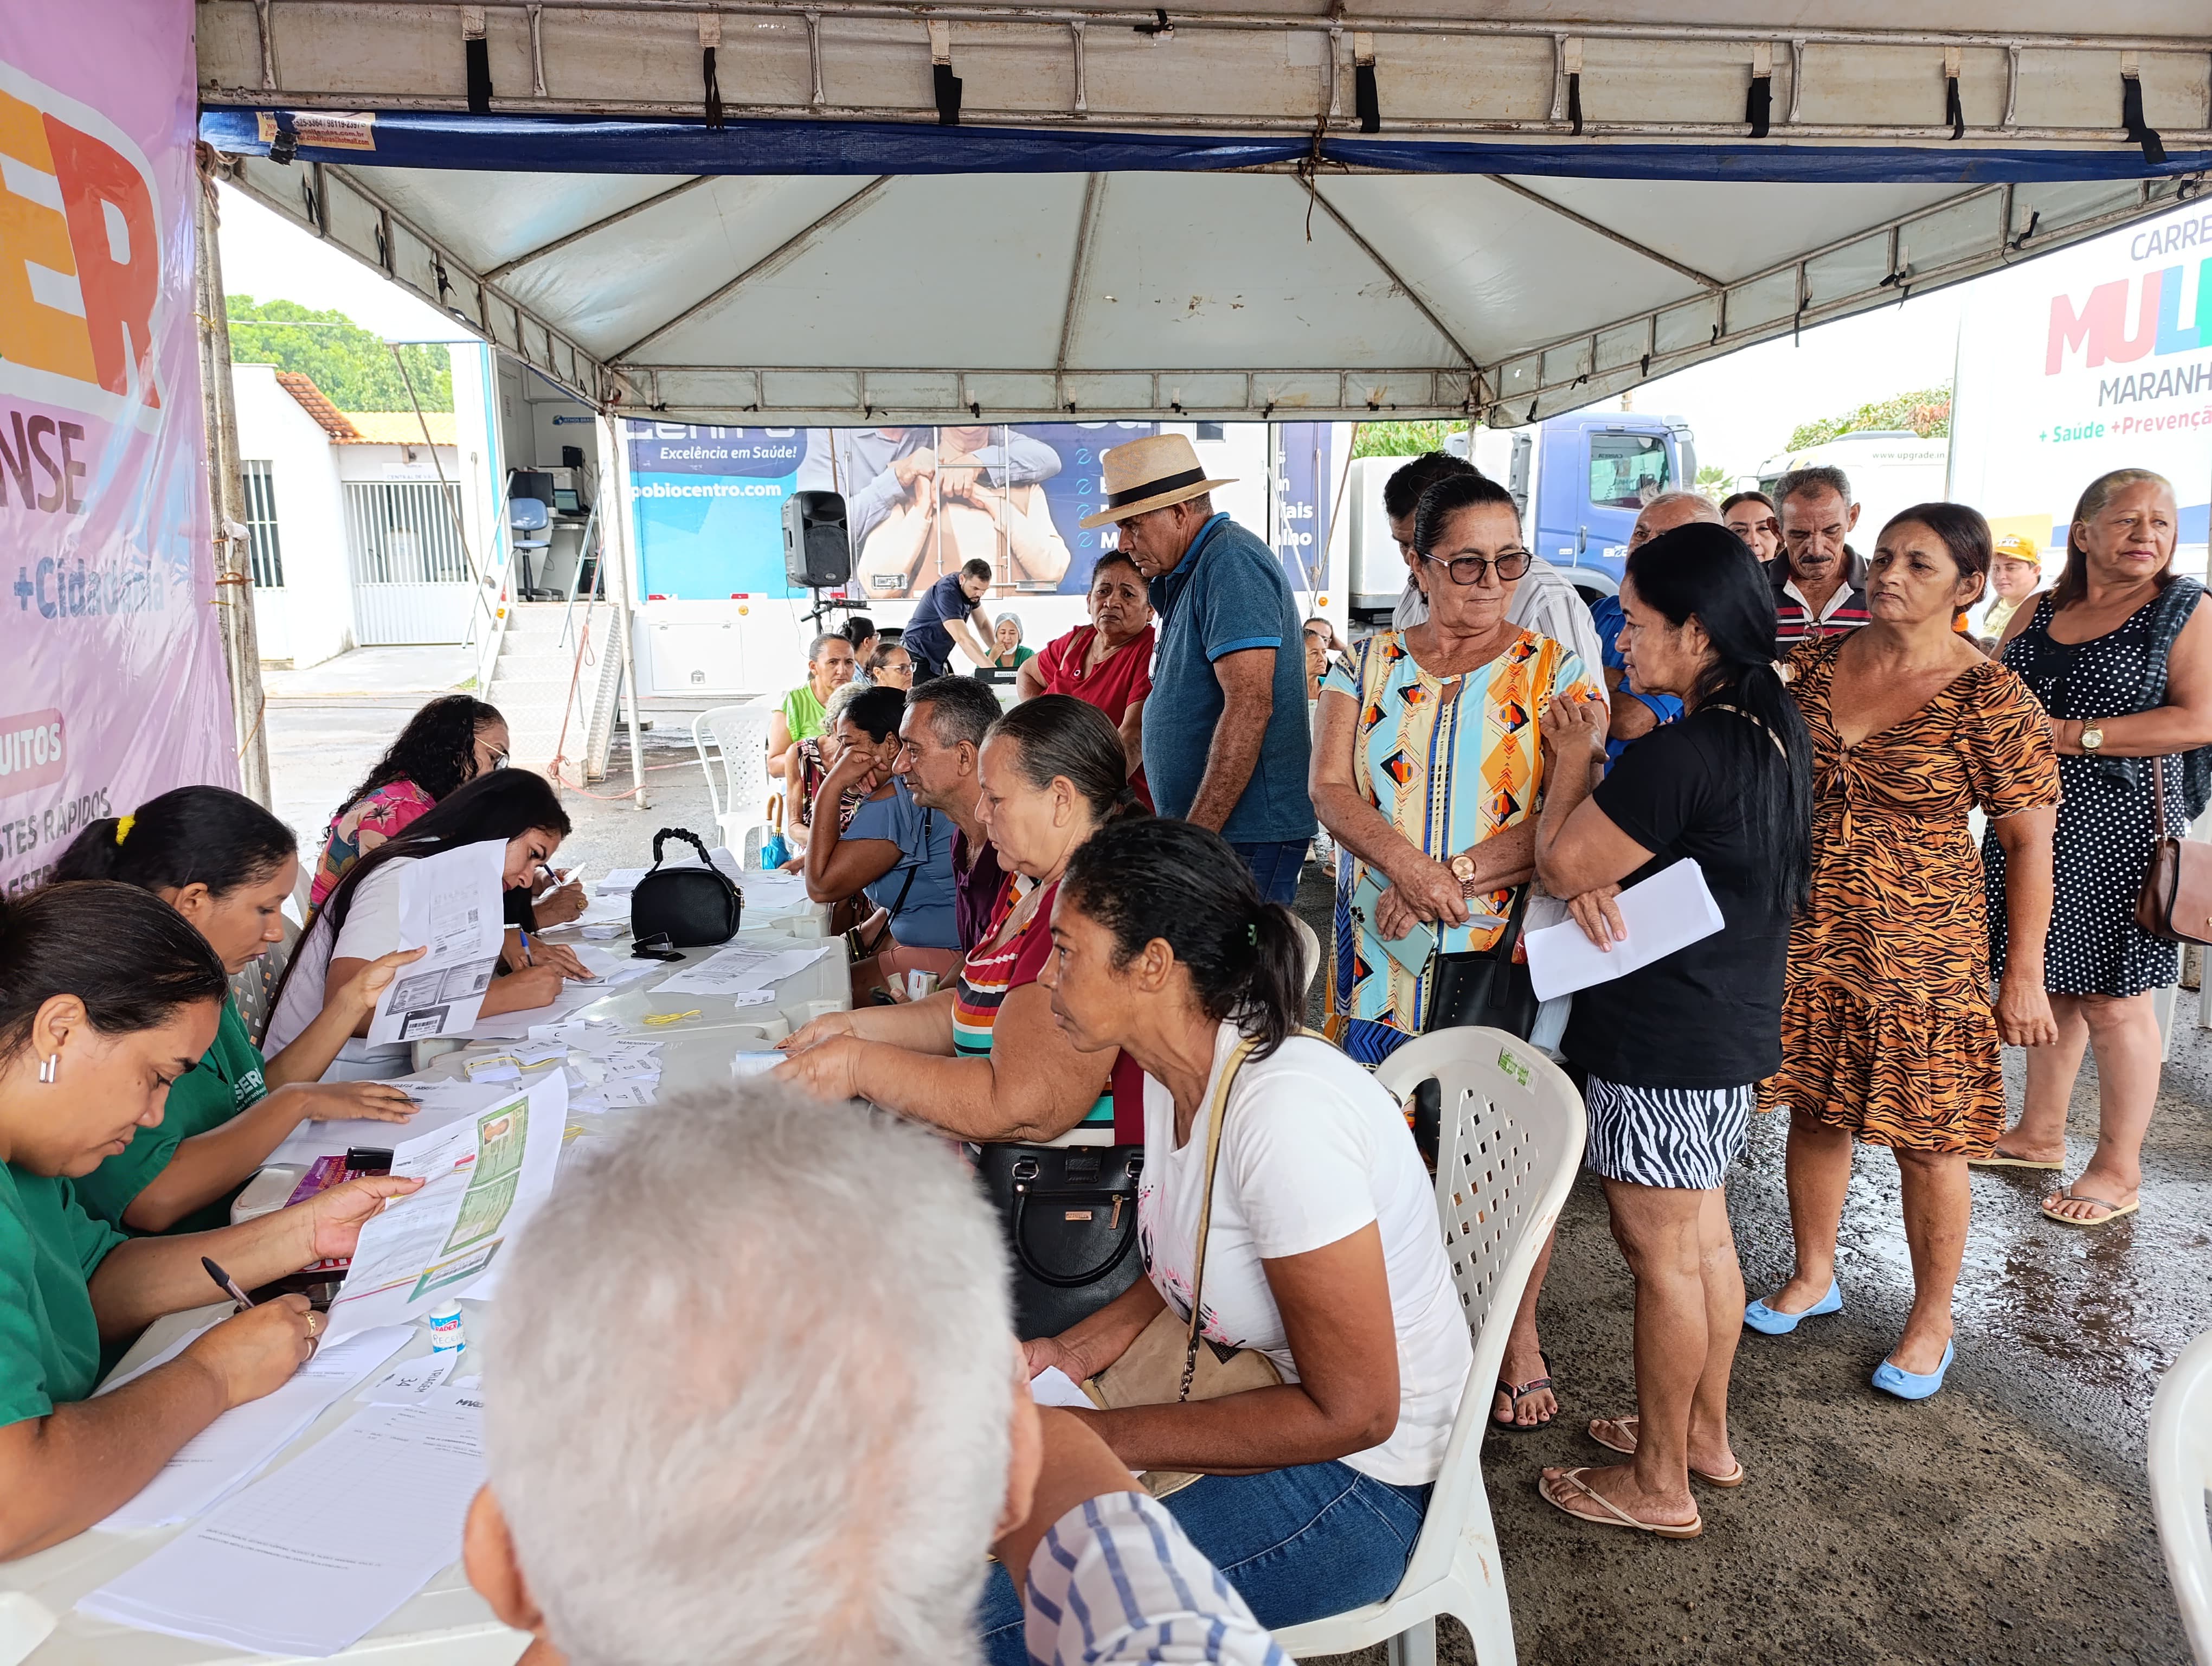
[[[978,779],[984,832],[1013,878],[953,987],[816,1018],[783,1042],[790,1062],[776,1075],[827,1100],[874,1100],[960,1139],[1137,1144],[1115,1139],[1115,1058],[1077,1053],[1037,982],[1068,858],[1137,810],[1121,737],[1095,706],[1040,695],[984,735]]]

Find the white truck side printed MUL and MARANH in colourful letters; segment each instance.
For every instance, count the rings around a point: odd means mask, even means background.
[[[2212,204],[1975,285],[1960,321],[1951,489],[1993,531],[2066,549],[2081,489],[2157,469],[2181,504],[2174,569],[2203,575],[2212,504]],[[2057,580],[2057,562],[2044,577]]]

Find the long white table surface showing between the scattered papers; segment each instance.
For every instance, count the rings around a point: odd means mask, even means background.
[[[792,938],[776,929],[739,931],[734,943],[763,943],[772,947],[794,947],[821,943],[821,934]],[[723,945],[714,945],[717,949]],[[690,949],[681,965],[703,960],[714,949]],[[730,1082],[730,1055],[754,1051],[776,1040],[776,1027],[796,1029],[816,1011],[843,1011],[849,1007],[845,956],[832,951],[801,973],[774,985],[772,1007],[737,1007],[728,998],[714,996],[659,996],[657,985],[677,969],[668,962],[613,996],[593,1002],[577,1016],[615,1018],[624,1033],[635,1033],[661,1044],[659,1097],[712,1089]],[[699,1009],[699,1018],[686,1018],[666,1027],[646,1027],[648,1013],[684,1013]],[[469,1051],[493,1051],[495,1042],[484,1042]],[[429,1060],[422,1075],[458,1075],[467,1053],[447,1051]],[[551,1069],[551,1066],[546,1066]],[[650,1117],[653,1108],[624,1111],[619,1117]],[[591,1135],[606,1124],[619,1126],[617,1115],[580,1117],[577,1126]],[[296,1173],[296,1170],[294,1170]],[[137,1365],[179,1334],[197,1330],[228,1312],[230,1303],[210,1303],[184,1314],[155,1321],[144,1336],[122,1358],[117,1370]],[[469,1354],[480,1354],[482,1314],[487,1305],[462,1299],[465,1325],[469,1332]],[[387,1365],[369,1374],[369,1383],[380,1378],[403,1358],[429,1352],[429,1336],[416,1327],[407,1343]],[[462,1372],[480,1370],[476,1358]],[[276,1465],[296,1462],[301,1454],[316,1445],[332,1429],[361,1412],[347,1396],[325,1412],[316,1423],[279,1454]],[[268,1474],[268,1471],[263,1471]],[[332,1487],[343,1487],[345,1476],[332,1476]],[[144,1560],[161,1544],[181,1533],[184,1527],[157,1527],[135,1533],[88,1531],[73,1540],[22,1558],[0,1562],[0,1666],[228,1666],[246,1662],[268,1662],[268,1655],[230,1648],[223,1644],[168,1637],[153,1631],[133,1631],[108,1620],[93,1620],[75,1611],[75,1602],[124,1569]],[[51,1624],[51,1631],[49,1631]],[[491,1617],[484,1600],[469,1589],[460,1566],[445,1569],[422,1591],[407,1600],[385,1624],[363,1637],[334,1659],[345,1662],[405,1662],[405,1666],[513,1666],[529,1639]]]

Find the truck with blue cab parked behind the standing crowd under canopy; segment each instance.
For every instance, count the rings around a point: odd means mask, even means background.
[[[1528,549],[1566,569],[1586,597],[1613,595],[1637,511],[1661,491],[1697,485],[1697,447],[1679,416],[1579,412],[1515,429],[1464,429],[1449,449],[1502,482]],[[1360,458],[1347,489],[1352,617],[1385,624],[1405,589],[1405,562],[1383,513],[1383,482],[1409,458]]]

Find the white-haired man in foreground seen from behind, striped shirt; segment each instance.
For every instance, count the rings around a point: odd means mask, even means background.
[[[987,1549],[1033,1659],[1283,1662],[1031,1401],[998,1221],[942,1139],[745,1082],[577,1155],[484,1336],[467,1569],[522,1666],[962,1666]]]

